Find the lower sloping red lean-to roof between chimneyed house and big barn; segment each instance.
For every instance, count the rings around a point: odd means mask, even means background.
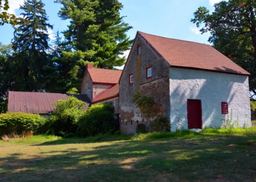
[[[102,94],[99,94],[97,97],[93,99],[92,104],[95,104],[97,102],[102,102],[105,100],[113,99],[115,97],[118,97],[119,95],[119,84],[114,85],[111,88],[108,88]]]

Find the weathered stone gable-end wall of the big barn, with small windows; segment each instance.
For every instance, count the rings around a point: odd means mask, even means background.
[[[141,48],[140,55],[137,55],[137,46]],[[152,67],[152,77],[147,79],[148,66]],[[134,82],[131,84],[129,83],[130,74],[134,75]],[[169,117],[168,65],[140,36],[137,36],[134,42],[119,83],[119,125],[124,134],[135,133],[137,124],[144,123],[146,127],[149,125],[149,120],[132,102],[132,95],[137,92],[152,97],[160,105],[159,114]]]

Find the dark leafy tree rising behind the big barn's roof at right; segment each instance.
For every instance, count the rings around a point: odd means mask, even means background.
[[[210,32],[209,42],[250,72],[250,91],[256,95],[256,0],[229,0],[215,4],[212,14],[199,7],[191,20]]]

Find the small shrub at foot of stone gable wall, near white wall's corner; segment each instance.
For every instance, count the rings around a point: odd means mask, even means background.
[[[151,122],[150,130],[169,132],[171,131],[170,120],[166,119],[163,116],[160,116],[157,119],[155,119],[153,122]]]

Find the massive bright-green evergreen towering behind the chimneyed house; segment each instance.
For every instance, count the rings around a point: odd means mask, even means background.
[[[117,0],[58,0],[63,5],[59,16],[70,19],[64,31],[69,49],[55,59],[63,68],[62,77],[70,80],[70,88],[80,89],[85,65],[90,62],[99,68],[123,65],[125,57],[119,57],[131,47],[126,32],[132,28],[124,23]],[[71,81],[72,80],[72,81]],[[67,90],[66,90],[67,91]]]

